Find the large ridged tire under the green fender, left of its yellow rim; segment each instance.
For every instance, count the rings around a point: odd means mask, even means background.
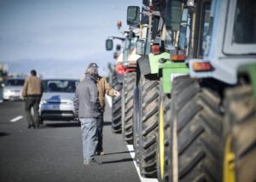
[[[158,132],[159,80],[141,77],[141,126],[139,132],[139,168],[145,178],[156,178],[156,135]]]

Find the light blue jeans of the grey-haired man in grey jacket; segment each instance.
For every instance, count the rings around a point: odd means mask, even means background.
[[[84,163],[90,163],[95,158],[96,147],[98,144],[98,133],[96,118],[80,118]]]

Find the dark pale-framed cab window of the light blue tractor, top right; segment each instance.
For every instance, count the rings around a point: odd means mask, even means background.
[[[256,1],[230,0],[224,54],[256,54]]]

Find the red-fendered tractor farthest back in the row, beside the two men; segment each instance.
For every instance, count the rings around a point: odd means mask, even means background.
[[[116,38],[116,37],[113,37]],[[132,116],[133,116],[133,88],[136,82],[137,59],[135,43],[136,34],[133,31],[125,31],[123,50],[117,58],[115,72],[113,73],[113,88],[121,91],[121,97],[113,99],[113,122],[114,133],[122,133],[126,144],[133,142]],[[107,50],[113,48],[113,40],[106,42]]]

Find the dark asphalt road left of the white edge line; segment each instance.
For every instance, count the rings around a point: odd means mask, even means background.
[[[23,102],[0,103],[0,181],[141,181],[121,134],[111,132],[110,119],[108,108],[106,155],[96,157],[102,165],[86,167],[78,122],[46,121],[39,129],[28,129]]]

